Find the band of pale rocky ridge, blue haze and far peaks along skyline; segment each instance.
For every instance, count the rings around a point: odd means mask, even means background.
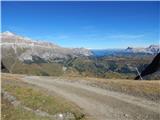
[[[150,45],[147,48],[128,47],[126,49],[89,50],[85,48],[64,48],[53,43],[22,37],[9,31],[1,33],[0,37],[2,53],[9,49],[15,52],[19,50],[18,59],[21,61],[33,61],[33,57],[53,61],[57,58],[67,59],[68,57],[78,56],[123,56],[128,54],[157,54],[160,52],[159,45]],[[6,50],[3,51],[3,49]]]

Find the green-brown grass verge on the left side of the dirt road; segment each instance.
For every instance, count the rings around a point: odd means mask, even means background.
[[[51,95],[47,93],[46,90],[42,90],[38,87],[31,86],[29,84],[22,82],[20,79],[20,76],[18,75],[2,74],[2,89],[9,92],[11,95],[15,96],[17,100],[21,101],[21,103],[24,106],[32,108],[35,111],[41,110],[51,115],[70,112],[74,114],[76,120],[85,119],[84,114],[82,113],[82,109],[80,109],[75,104],[64,100],[63,98],[61,98],[60,96],[54,93],[52,93]],[[7,115],[11,118],[6,120],[37,120],[38,119],[36,117],[32,117],[34,116],[33,113],[28,113],[26,111],[23,112],[22,110],[18,108],[14,108],[13,106],[10,106],[8,104],[9,103],[7,101],[3,100],[2,116]],[[22,114],[21,112],[23,112],[24,114]],[[14,114],[16,114],[16,117],[13,117]],[[28,119],[27,117],[25,119],[26,114],[28,115]],[[48,120],[48,118],[45,118],[45,119]]]

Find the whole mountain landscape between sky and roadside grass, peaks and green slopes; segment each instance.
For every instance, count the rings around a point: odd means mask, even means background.
[[[18,74],[133,78],[136,73],[130,66],[141,71],[160,51],[158,45],[106,50],[64,48],[11,32],[1,33],[0,37],[4,71]],[[159,79],[157,76],[152,79]]]

